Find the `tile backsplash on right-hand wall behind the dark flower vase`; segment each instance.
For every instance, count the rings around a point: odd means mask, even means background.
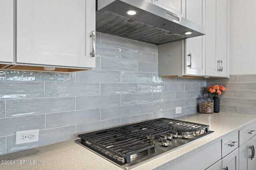
[[[207,79],[207,86],[213,84],[226,87],[220,95],[220,111],[256,115],[256,74]]]

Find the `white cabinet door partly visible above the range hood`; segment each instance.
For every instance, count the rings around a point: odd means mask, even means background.
[[[186,0],[152,0],[152,3],[178,16],[186,17]]]

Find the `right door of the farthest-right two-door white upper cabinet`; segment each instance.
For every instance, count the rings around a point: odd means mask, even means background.
[[[228,0],[216,0],[216,58],[221,61],[219,76],[229,76],[228,72]]]

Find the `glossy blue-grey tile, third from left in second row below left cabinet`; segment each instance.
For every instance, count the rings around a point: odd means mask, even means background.
[[[100,85],[100,94],[128,94],[137,92],[137,83],[101,83]]]

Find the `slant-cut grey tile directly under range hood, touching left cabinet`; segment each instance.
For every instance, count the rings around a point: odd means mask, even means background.
[[[138,41],[121,38],[114,35],[100,33],[100,43],[106,45],[113,45],[116,47],[124,47],[127,49],[138,50]]]

